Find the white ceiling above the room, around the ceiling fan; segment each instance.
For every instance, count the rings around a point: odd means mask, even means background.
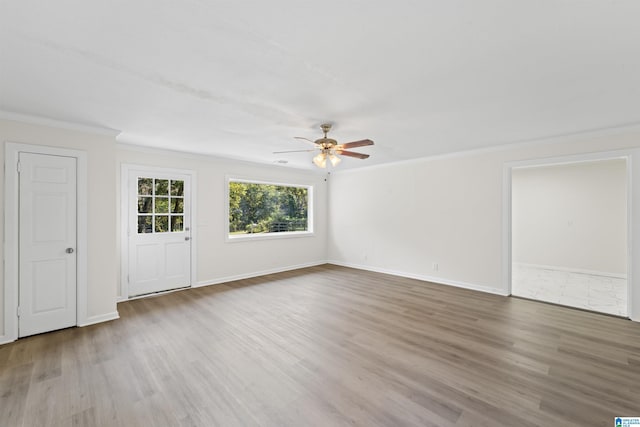
[[[0,109],[350,168],[640,123],[638,0],[0,0]]]

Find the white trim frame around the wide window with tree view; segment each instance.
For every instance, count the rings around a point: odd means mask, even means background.
[[[257,233],[257,234],[229,234],[229,184],[232,182],[243,182],[247,184],[264,184],[264,185],[277,185],[280,187],[298,187],[307,189],[307,231],[282,231],[278,233]],[[270,181],[262,179],[252,179],[245,177],[238,177],[235,175],[227,175],[225,179],[225,242],[237,243],[248,242],[256,240],[271,240],[271,239],[295,239],[300,237],[313,237],[315,236],[314,217],[315,217],[315,203],[314,203],[314,188],[313,184],[309,183],[296,183],[296,182],[281,182]]]

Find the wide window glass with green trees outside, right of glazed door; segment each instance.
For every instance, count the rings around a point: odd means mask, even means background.
[[[313,231],[310,186],[229,180],[229,237]]]

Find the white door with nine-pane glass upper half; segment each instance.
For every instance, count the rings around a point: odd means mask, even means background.
[[[129,296],[191,286],[189,175],[129,172]]]

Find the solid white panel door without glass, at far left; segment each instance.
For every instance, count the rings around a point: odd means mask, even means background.
[[[76,325],[77,166],[19,154],[20,337]]]

